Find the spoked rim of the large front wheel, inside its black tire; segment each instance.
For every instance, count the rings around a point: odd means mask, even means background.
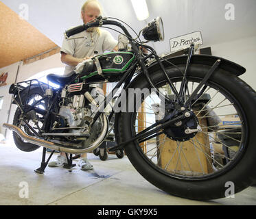
[[[201,79],[189,77],[188,80],[189,89],[186,90],[187,96],[189,96],[196,88]],[[172,78],[172,81],[175,82],[176,88],[179,89],[181,77]],[[163,88],[163,84],[164,82],[162,81],[158,83],[157,87]],[[154,140],[151,139],[151,142],[149,140],[146,143],[141,144],[137,142],[137,150],[141,157],[143,157],[152,168],[176,179],[206,180],[223,175],[239,162],[244,154],[246,142],[248,140],[248,126],[245,113],[242,110],[240,103],[235,100],[233,95],[217,83],[212,81],[207,83],[205,93],[207,92],[211,94],[211,99],[209,99],[209,101],[207,101],[207,103],[205,103],[199,110],[194,111],[194,113],[200,120],[200,126],[202,127],[202,133],[200,134],[207,136],[205,138],[208,138],[209,144],[202,144],[201,140],[198,138],[198,133],[191,140],[185,142],[176,141],[176,145],[174,145],[174,141],[168,138],[166,134],[164,136],[161,135]],[[167,92],[165,92],[165,94],[167,94]],[[154,97],[151,95],[146,96],[143,105],[141,105],[145,110],[145,112],[143,112],[144,115],[142,116],[143,120],[141,120],[141,116],[139,115],[142,113],[137,112],[132,114],[131,129],[133,136],[139,131],[143,131],[146,127],[154,124],[156,121],[156,118],[154,118],[156,116],[155,109],[152,109],[152,103],[155,105],[160,99],[156,94],[153,95]],[[194,106],[196,106],[196,104],[197,103],[195,102]],[[211,107],[208,108],[209,106]],[[235,118],[237,122],[233,123],[233,126],[224,124],[218,126],[203,125],[202,120],[211,119],[212,112],[215,112],[216,117],[218,116],[219,118],[224,118],[224,116],[227,115],[237,115],[237,118]],[[144,125],[141,127],[141,124],[143,123]],[[241,131],[237,131],[240,129]],[[236,138],[234,138],[235,135]],[[237,138],[237,136],[240,137]],[[169,144],[168,141],[171,142],[170,144],[172,144],[172,147],[169,146],[169,148],[167,148]],[[230,142],[235,145],[231,146]],[[222,150],[220,150],[219,144],[221,144]],[[191,157],[188,158],[189,156],[185,153],[185,149],[187,151],[189,149],[194,149],[194,157],[197,157],[198,160],[197,165],[193,164],[193,166],[190,164],[195,162],[194,160],[192,162],[191,160],[189,161]],[[165,155],[166,157],[166,151],[168,150],[172,150],[172,153],[168,153],[169,157],[167,160],[165,158],[165,161],[163,162],[162,156]],[[201,157],[205,157],[204,160]],[[197,168],[194,168],[195,166],[197,166]]]

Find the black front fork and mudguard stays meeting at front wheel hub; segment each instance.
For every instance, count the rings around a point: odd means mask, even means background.
[[[154,51],[154,50],[152,49],[152,51]],[[150,127],[146,128],[143,131],[141,131],[140,133],[138,133],[134,138],[131,138],[130,140],[128,140],[126,142],[121,142],[117,146],[110,149],[110,151],[117,151],[119,149],[123,149],[124,146],[126,146],[126,144],[128,144],[129,142],[132,142],[134,140],[139,140],[140,143],[145,142],[146,140],[148,140],[150,138],[154,138],[155,136],[161,135],[163,133],[163,131],[161,131],[161,129],[164,129],[166,127],[170,127],[170,126],[178,124],[180,122],[184,122],[185,120],[189,120],[191,118],[191,116],[195,116],[194,113],[189,110],[191,102],[194,101],[194,99],[196,99],[196,97],[200,96],[202,94],[203,90],[205,90],[205,87],[202,88],[202,86],[206,86],[205,84],[207,83],[207,80],[209,79],[209,77],[211,77],[211,75],[216,70],[216,68],[218,68],[218,66],[220,65],[221,60],[217,60],[213,64],[213,66],[211,66],[211,68],[209,69],[209,71],[207,72],[205,77],[202,79],[202,81],[199,83],[197,88],[189,96],[189,99],[187,99],[187,101],[185,101],[185,90],[187,89],[187,70],[188,70],[189,64],[191,62],[191,57],[192,57],[193,54],[194,54],[194,44],[191,44],[191,47],[189,47],[189,52],[188,52],[188,55],[187,55],[187,63],[186,63],[186,66],[185,66],[185,73],[183,74],[183,81],[181,82],[181,89],[180,89],[179,92],[174,87],[171,79],[168,77],[168,75],[165,71],[165,68],[164,68],[161,60],[156,55],[156,61],[159,62],[161,70],[163,70],[163,73],[164,73],[164,75],[165,75],[165,77],[166,77],[166,79],[167,79],[167,81],[170,85],[170,88],[172,89],[172,92],[174,92],[174,95],[176,96],[176,99],[178,100],[178,103],[181,106],[181,109],[178,110],[178,112],[177,112],[177,114],[179,116],[176,116],[175,118],[169,118],[169,119],[166,119],[168,117],[165,116],[165,118],[163,118],[162,120],[159,120],[157,123],[154,123]],[[137,59],[138,59],[138,62],[139,62],[139,64],[141,65],[141,67],[143,69],[143,73],[146,76],[146,79],[148,80],[148,83],[150,83],[150,86],[152,88],[156,89],[156,86],[154,85],[154,82],[150,78],[150,75],[148,73],[148,69],[146,68],[146,65],[144,64],[143,59],[140,56],[138,56]],[[159,92],[159,90],[157,90],[157,91]],[[199,91],[200,91],[200,93],[198,94]],[[158,94],[161,95],[161,96],[164,96],[163,94],[161,94],[161,92],[159,92]],[[167,99],[166,96],[164,96],[164,98],[165,98],[165,100],[167,100],[167,103],[170,103],[170,100]],[[185,133],[189,135],[191,133],[196,133],[198,131],[202,131],[199,124],[196,127],[196,129],[186,129]]]

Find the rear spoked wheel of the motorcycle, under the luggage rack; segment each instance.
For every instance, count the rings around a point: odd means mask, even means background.
[[[30,90],[30,94],[27,99],[27,104],[32,105],[36,101],[39,101],[40,99],[43,99],[43,92],[40,88],[32,88]],[[40,102],[36,107],[39,107],[40,109],[45,110],[46,103],[45,101]],[[44,117],[38,113],[36,113],[34,110],[27,112],[26,114],[23,114],[19,107],[17,107],[16,112],[14,114],[14,120],[13,125],[16,125],[19,127],[22,131],[24,131],[28,136],[36,136],[36,133],[40,132],[40,129],[43,127],[43,121]],[[30,127],[34,129],[36,133],[34,133]],[[21,139],[21,137],[18,136],[17,133],[13,132],[13,138],[16,146],[21,151],[35,151],[40,146],[31,144],[29,142],[26,142],[25,140]]]

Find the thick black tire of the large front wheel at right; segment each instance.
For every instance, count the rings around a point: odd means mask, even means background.
[[[179,67],[184,72],[184,66]],[[201,81],[208,70],[209,66],[191,64],[187,73],[188,79]],[[181,71],[174,67],[167,68],[167,74],[173,81],[182,78]],[[151,77],[159,85],[166,81],[160,70],[151,74]],[[141,147],[139,147],[138,142],[130,142],[125,146],[126,155],[137,171],[157,188],[174,196],[196,200],[222,198],[227,190],[225,187],[226,182],[231,181],[234,183],[236,193],[252,185],[253,180],[256,178],[255,91],[235,75],[221,69],[216,70],[207,83],[226,92],[225,94],[228,94],[234,101],[235,109],[238,109],[239,115],[242,116],[243,145],[237,152],[235,159],[230,162],[230,165],[224,166],[222,170],[208,177],[176,177],[150,162],[150,159],[146,157]],[[130,88],[141,89],[149,87],[148,82],[142,76],[130,86]],[[135,120],[134,117],[135,113],[121,114],[119,122],[121,142],[126,142],[132,136],[135,136],[135,128],[132,127],[135,123],[132,123],[132,120]]]

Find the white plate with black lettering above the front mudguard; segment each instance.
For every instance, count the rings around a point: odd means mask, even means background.
[[[191,43],[202,45],[202,34],[200,31],[170,39],[171,52],[186,49]]]

